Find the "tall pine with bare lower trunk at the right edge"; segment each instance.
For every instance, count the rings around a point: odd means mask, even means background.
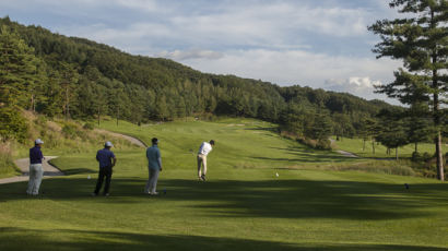
[[[446,0],[393,0],[389,3],[403,19],[377,21],[369,29],[381,41],[375,46],[378,58],[403,60],[396,80],[378,87],[379,93],[411,105],[426,103],[437,129],[435,136],[437,176],[444,180],[441,130],[444,97],[448,91],[448,2]]]

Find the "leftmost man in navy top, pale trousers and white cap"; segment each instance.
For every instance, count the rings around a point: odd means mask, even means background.
[[[44,144],[44,142],[37,139],[34,141],[34,147],[30,148],[30,181],[28,189],[26,190],[26,193],[30,195],[39,194],[42,177],[44,176],[42,159],[45,158],[40,151],[42,144]]]

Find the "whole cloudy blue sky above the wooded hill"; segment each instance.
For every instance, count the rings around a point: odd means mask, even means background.
[[[0,16],[207,73],[366,99],[401,62],[376,59],[367,26],[388,0],[1,0]]]

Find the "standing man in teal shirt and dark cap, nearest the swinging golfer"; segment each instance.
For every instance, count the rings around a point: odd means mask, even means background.
[[[157,187],[158,172],[162,171],[162,157],[161,151],[158,150],[157,138],[153,138],[151,142],[153,145],[146,148],[149,178],[144,193],[157,195],[158,193],[155,190]]]

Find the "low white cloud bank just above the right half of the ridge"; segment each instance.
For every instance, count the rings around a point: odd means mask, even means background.
[[[181,53],[178,51],[178,53]],[[280,85],[298,84],[314,88],[347,92],[367,99],[384,98],[374,94],[374,85],[389,83],[400,62],[388,59],[329,56],[304,50],[232,50],[219,58],[180,60],[200,71],[261,79]]]

